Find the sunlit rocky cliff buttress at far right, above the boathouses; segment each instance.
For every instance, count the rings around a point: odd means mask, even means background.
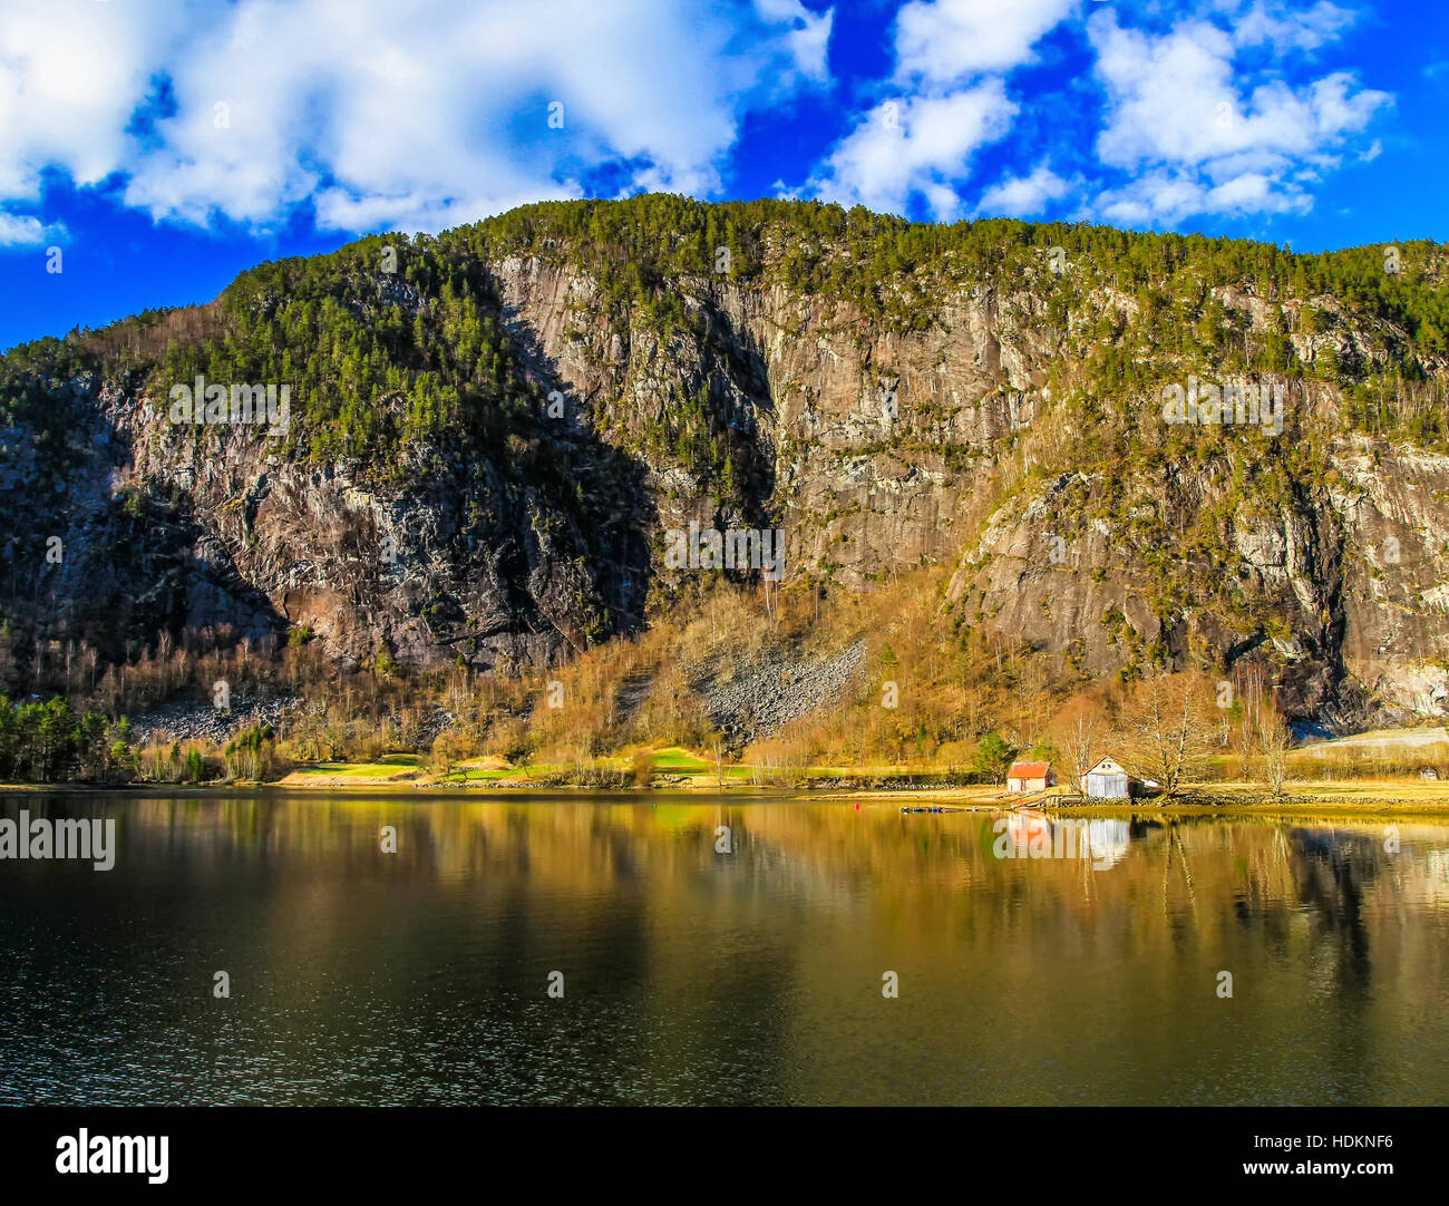
[[[1345,438],[1332,465],[1332,484],[1307,483],[1290,504],[1223,513],[1220,555],[1145,546],[1133,531],[1146,510],[1190,532],[1222,507],[1220,480],[1165,480],[1158,497],[1064,539],[1062,496],[1094,484],[1090,471],[1064,474],[993,515],[948,597],[1051,651],[1062,673],[1111,674],[1156,649],[1220,673],[1252,658],[1293,716],[1345,726],[1443,716],[1449,458]],[[1181,584],[1171,607],[1158,602],[1165,581]],[[1229,607],[1211,606],[1223,599]]]

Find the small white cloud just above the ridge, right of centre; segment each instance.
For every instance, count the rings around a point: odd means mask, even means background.
[[[1017,106],[1000,80],[945,97],[888,100],[840,142],[813,181],[824,200],[903,213],[913,194],[943,220],[956,217],[953,187],[972,152],[1010,129]]]

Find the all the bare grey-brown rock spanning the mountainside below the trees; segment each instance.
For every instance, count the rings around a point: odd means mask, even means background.
[[[1445,713],[1449,458],[1340,431],[1339,391],[1304,380],[1288,383],[1271,471],[1274,436],[1184,444],[1151,391],[1065,406],[1091,393],[1080,368],[1110,338],[1093,323],[1136,317],[1110,284],[1074,294],[1064,320],[1040,264],[919,273],[890,286],[929,315],[913,328],[780,274],[678,274],[667,288],[690,320],[669,330],[567,257],[480,268],[552,399],[503,454],[410,444],[380,477],[254,429],[178,432],[155,377],[74,378],[84,420],[64,457],[4,436],[7,615],[112,652],[227,626],[310,629],[354,662],[383,645],[417,665],[546,664],[643,625],[678,577],[662,536],[696,520],[782,529],[787,586],[953,567],[943,626],[1019,639],[1061,674],[1253,658],[1293,715]],[[430,304],[388,299],[404,320]],[[1330,348],[1382,365],[1401,336],[1333,299],[1323,329],[1300,322],[1306,302],[1213,300],[1245,339],[1285,317],[1310,362]],[[685,397],[723,433],[727,487],[656,438]]]

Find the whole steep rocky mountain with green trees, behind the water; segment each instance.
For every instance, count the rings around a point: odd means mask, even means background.
[[[116,725],[225,680],[338,749],[504,757],[823,757],[801,726],[875,725],[882,678],[922,757],[1168,671],[1443,715],[1445,270],[671,196],[262,264],[0,358],[0,690]],[[197,384],[285,386],[287,422],[174,422]],[[667,555],[697,531],[780,531],[781,580]],[[852,649],[794,715],[751,686]],[[540,704],[562,667],[596,670]]]

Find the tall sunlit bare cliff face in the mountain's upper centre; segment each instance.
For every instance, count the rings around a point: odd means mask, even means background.
[[[558,265],[511,259],[496,274],[535,365],[585,422],[638,446],[665,420],[671,390],[703,386],[746,438],[761,486],[748,515],[719,510],[688,468],[646,459],[664,528],[772,517],[797,574],[848,589],[955,558],[993,449],[1039,412],[1052,354],[1030,300],[1010,299],[1003,316],[990,290],[943,306],[927,335],[862,338],[869,325],[849,306],[682,280],[707,336],[664,342],[646,326],[590,330],[591,284]]]

